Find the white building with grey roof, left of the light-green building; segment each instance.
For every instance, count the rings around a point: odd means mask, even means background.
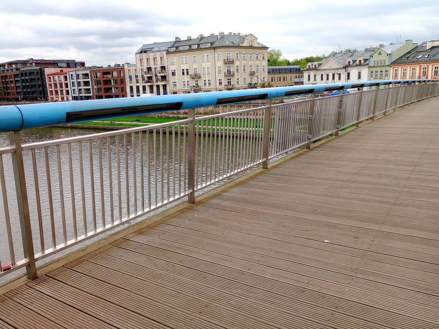
[[[310,62],[303,70],[305,85],[367,80],[369,57],[378,47],[332,52],[322,61]]]

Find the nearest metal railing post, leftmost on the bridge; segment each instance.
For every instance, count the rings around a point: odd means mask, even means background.
[[[23,253],[25,259],[29,260],[29,265],[26,265],[26,274],[29,279],[34,280],[38,276],[36,274],[25,168],[19,131],[9,132],[9,143],[12,147],[15,147],[15,152],[11,154],[12,168],[14,171],[15,192],[17,195],[18,217],[20,218],[20,229],[22,232]]]

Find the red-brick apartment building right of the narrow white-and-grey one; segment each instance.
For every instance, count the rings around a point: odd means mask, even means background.
[[[91,86],[95,100],[126,97],[125,67],[121,64],[90,68]]]

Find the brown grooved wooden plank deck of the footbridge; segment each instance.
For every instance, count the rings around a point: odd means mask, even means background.
[[[0,328],[439,328],[439,99],[0,296]]]

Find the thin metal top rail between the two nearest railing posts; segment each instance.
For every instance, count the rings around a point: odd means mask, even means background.
[[[37,149],[41,147],[48,147],[48,146],[56,146],[61,144],[68,144],[68,143],[75,143],[75,142],[83,142],[90,139],[97,139],[97,138],[105,138],[105,137],[111,137],[111,136],[117,136],[122,134],[130,134],[132,132],[140,132],[140,131],[148,131],[152,129],[159,129],[159,128],[165,128],[173,125],[183,125],[185,123],[192,122],[192,120],[177,120],[172,122],[165,122],[165,123],[158,123],[156,125],[147,125],[144,127],[135,127],[135,128],[127,128],[117,131],[109,131],[109,132],[99,132],[97,134],[90,134],[90,135],[83,135],[83,136],[77,136],[77,137],[69,137],[69,138],[61,138],[61,139],[54,139],[54,140],[48,140],[46,142],[36,142],[36,143],[28,143],[22,145],[22,150],[32,150]],[[14,150],[14,148],[12,147]],[[0,150],[1,151],[1,150]]]

